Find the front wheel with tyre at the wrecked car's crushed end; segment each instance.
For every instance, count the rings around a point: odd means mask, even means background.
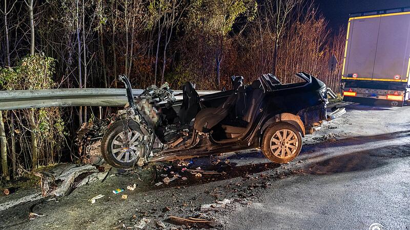
[[[139,159],[139,151],[142,150],[139,148],[139,144],[134,143],[142,139],[142,134],[134,130],[128,130],[129,135],[127,137],[122,121],[116,121],[108,127],[103,140],[101,140],[101,154],[111,166],[128,169],[133,167]],[[131,142],[132,140],[134,141]]]

